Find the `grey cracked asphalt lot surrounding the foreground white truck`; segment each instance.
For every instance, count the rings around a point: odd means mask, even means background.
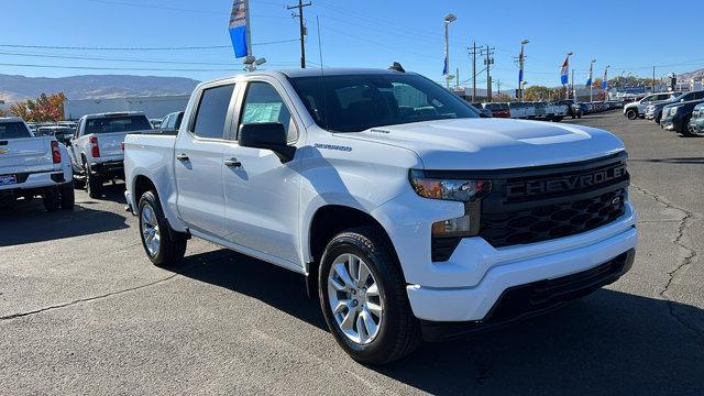
[[[617,112],[579,123],[630,153],[634,270],[549,317],[382,369],[337,348],[295,274],[204,241],[172,271],[150,265],[122,185],[79,193],[72,212],[2,209],[0,393],[704,394],[704,139]]]

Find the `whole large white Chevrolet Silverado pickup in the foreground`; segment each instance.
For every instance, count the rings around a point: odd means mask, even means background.
[[[638,237],[616,136],[479,118],[398,67],[201,84],[178,134],[128,135],[124,164],[154,264],[193,235],[297,272],[370,364],[613,283]]]

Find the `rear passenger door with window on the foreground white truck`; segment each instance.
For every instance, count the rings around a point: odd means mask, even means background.
[[[178,213],[191,230],[216,238],[226,231],[222,150],[233,92],[234,82],[206,86],[174,150]]]

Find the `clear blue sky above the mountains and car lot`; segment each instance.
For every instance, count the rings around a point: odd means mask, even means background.
[[[386,67],[400,62],[408,70],[442,80],[443,22],[450,26],[451,69],[460,79],[471,77],[468,46],[495,47],[494,81],[515,89],[514,57],[522,38],[529,85],[557,86],[566,52],[574,52],[575,84],[583,84],[588,62],[596,58],[595,77],[610,65],[622,73],[656,77],[704,67],[701,44],[704,8],[701,0],[667,2],[676,15],[668,28],[666,3],[651,0],[593,1],[382,1],[311,0],[305,9],[309,36],[306,50],[311,66]],[[228,35],[231,0],[4,0],[0,35],[0,74],[70,76],[134,74],[185,76],[204,80],[241,72]],[[299,66],[298,22],[285,0],[251,0],[255,55],[267,68]],[[696,10],[688,12],[688,10]],[[660,26],[660,28],[658,28]],[[265,44],[271,42],[283,42]],[[697,43],[698,42],[698,43]],[[13,47],[70,46],[92,50]],[[224,46],[179,51],[102,51],[95,47]],[[9,66],[41,65],[47,67]],[[75,68],[69,68],[75,67]],[[105,69],[98,69],[98,68]],[[483,63],[477,62],[477,69]],[[477,77],[484,87],[485,74]],[[466,82],[469,84],[469,82]],[[496,89],[496,87],[494,87]],[[0,87],[1,90],[1,87]]]

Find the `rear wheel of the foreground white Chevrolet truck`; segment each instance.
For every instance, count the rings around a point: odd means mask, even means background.
[[[142,246],[150,261],[156,266],[178,263],[186,254],[186,237],[170,230],[154,191],[142,195],[138,215]]]

